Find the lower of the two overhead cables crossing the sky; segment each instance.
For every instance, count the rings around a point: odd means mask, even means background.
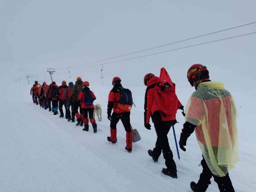
[[[90,65],[90,66],[73,68],[73,69],[81,69],[81,68],[94,67],[94,66],[99,66],[99,65],[107,65],[107,64],[111,64],[111,63],[117,63],[117,62],[120,62],[120,61],[128,61],[128,60],[132,60],[132,59],[142,58],[142,57],[151,56],[151,55],[157,55],[157,54],[160,54],[160,53],[171,52],[171,51],[180,50],[180,49],[189,48],[189,47],[195,47],[195,46],[198,46],[198,45],[209,44],[209,43],[212,43],[212,42],[217,42],[217,41],[226,40],[226,39],[232,39],[232,38],[235,38],[235,37],[241,37],[241,36],[250,35],[250,34],[254,34],[254,33],[256,33],[256,32],[247,33],[247,34],[243,34],[243,35],[237,35],[237,36],[234,36],[234,37],[228,37],[228,38],[225,38],[225,39],[209,41],[209,42],[205,42],[205,43],[201,43],[201,44],[196,44],[196,45],[190,45],[190,46],[187,46],[187,47],[176,48],[176,49],[172,49],[172,50],[168,50],[168,51],[164,51],[164,52],[152,53],[152,54],[149,54],[149,55],[137,56],[137,57],[133,57],[133,58],[129,58],[129,59],[112,61],[112,62],[109,62],[109,63]],[[66,70],[66,69],[59,69],[58,71],[63,71],[63,70]]]

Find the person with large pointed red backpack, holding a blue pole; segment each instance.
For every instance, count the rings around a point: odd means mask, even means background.
[[[162,71],[163,73],[166,72],[165,69]],[[177,178],[177,168],[175,161],[173,160],[173,154],[170,149],[167,134],[170,131],[171,126],[177,122],[175,120],[176,112],[182,105],[175,94],[175,84],[173,84],[170,77],[168,78],[168,81],[164,82],[166,83],[163,84],[159,77],[156,77],[151,73],[146,74],[144,77],[144,84],[147,86],[144,106],[144,126],[147,129],[151,129],[151,125],[149,124],[151,117],[156,129],[157,141],[156,147],[153,151],[148,150],[148,153],[156,162],[163,151],[167,168],[163,168],[162,173]],[[161,97],[159,97],[159,94]],[[170,102],[166,103],[165,101]]]

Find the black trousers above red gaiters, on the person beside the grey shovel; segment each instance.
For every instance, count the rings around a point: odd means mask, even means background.
[[[111,121],[110,121],[110,128],[116,129],[117,123],[121,119],[123,126],[125,127],[126,132],[131,131],[131,123],[130,123],[130,112],[124,112],[124,113],[112,113]]]

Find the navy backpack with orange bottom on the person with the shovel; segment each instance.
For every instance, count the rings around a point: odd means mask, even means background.
[[[121,88],[118,107],[124,111],[130,111],[133,106],[133,97],[129,89]]]

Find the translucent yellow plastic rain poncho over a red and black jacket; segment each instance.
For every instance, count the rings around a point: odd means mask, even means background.
[[[185,109],[185,121],[196,125],[196,139],[211,172],[227,174],[239,161],[237,111],[221,82],[201,82]]]

